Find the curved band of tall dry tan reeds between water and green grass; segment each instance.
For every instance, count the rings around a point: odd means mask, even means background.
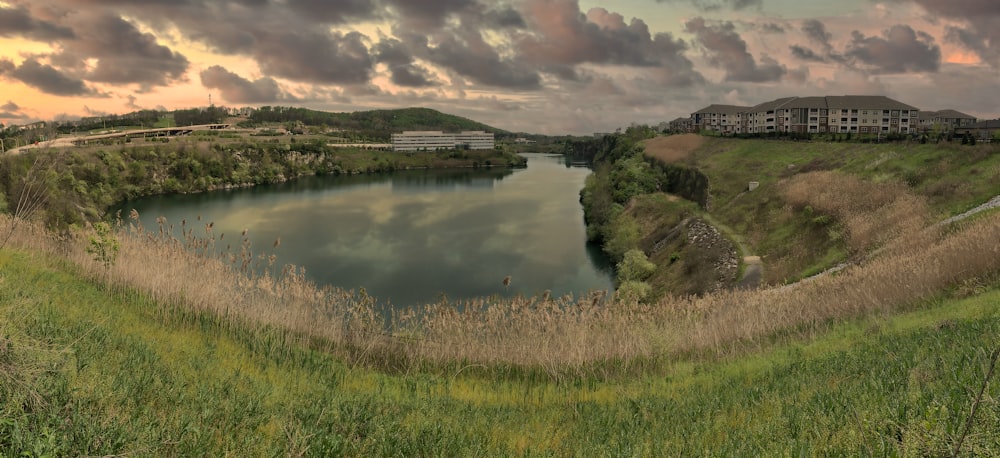
[[[823,199],[818,194],[806,201],[817,208],[846,205]],[[871,199],[845,214],[895,215],[899,210],[882,213],[886,202],[913,205],[900,196]],[[902,223],[895,233],[912,230],[908,218],[897,218]],[[0,229],[9,224],[8,217],[0,219]],[[195,234],[202,231],[204,236]],[[300,269],[278,269],[269,249],[257,251],[245,238],[215,237],[210,224],[183,233],[175,239],[168,230],[122,224],[121,252],[110,269],[86,254],[86,233],[58,237],[22,224],[12,243],[65,257],[111,291],[146,292],[166,304],[164,313],[198,310],[232,326],[269,326],[282,330],[283,344],[321,342],[354,362],[404,370],[427,363],[528,366],[553,376],[589,371],[602,361],[616,361],[622,370],[648,357],[725,353],[785,330],[810,332],[831,320],[905,309],[950,285],[1000,271],[1000,214],[993,214],[953,230],[897,237],[859,265],[794,287],[667,297],[652,305],[600,294],[482,298],[399,312],[387,328],[372,298],[319,287]],[[872,233],[868,240],[883,238]],[[231,243],[236,247],[222,248]]]

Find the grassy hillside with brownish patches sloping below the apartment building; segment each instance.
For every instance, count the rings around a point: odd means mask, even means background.
[[[647,154],[709,177],[707,213],[745,255],[763,257],[768,284],[856,261],[884,245],[879,237],[1000,195],[997,144],[692,140],[662,137]],[[751,181],[760,187],[748,192]]]

